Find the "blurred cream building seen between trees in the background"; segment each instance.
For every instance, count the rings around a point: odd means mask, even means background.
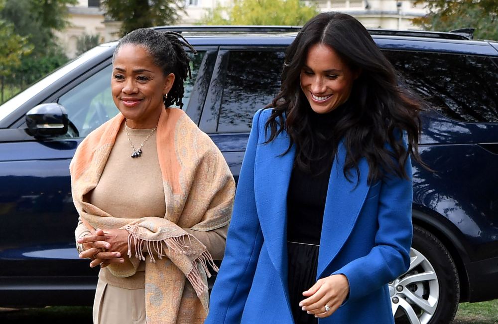
[[[179,24],[192,25],[201,20],[217,4],[230,6],[234,0],[179,0],[185,4]],[[78,38],[99,35],[100,42],[118,38],[120,22],[105,17],[99,0],[78,0],[69,7],[70,25],[57,35],[69,57],[77,52]],[[315,4],[320,11],[342,11],[357,17],[368,28],[418,29],[411,19],[423,16],[424,4],[414,5],[414,0],[305,0]]]

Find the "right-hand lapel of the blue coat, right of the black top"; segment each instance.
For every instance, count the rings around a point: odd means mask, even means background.
[[[323,272],[351,234],[369,191],[367,161],[360,160],[360,179],[358,179],[356,170],[353,169],[348,180],[343,172],[345,160],[346,148],[341,141],[337,157],[332,164],[325,200],[317,279],[324,275]]]

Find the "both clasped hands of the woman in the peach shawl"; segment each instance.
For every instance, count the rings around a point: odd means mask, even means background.
[[[83,246],[81,259],[89,258],[90,267],[101,265],[102,268],[110,264],[124,263],[124,256],[128,252],[128,232],[124,229],[95,229],[89,235],[78,238],[77,242]],[[127,256],[126,256],[127,257]]]

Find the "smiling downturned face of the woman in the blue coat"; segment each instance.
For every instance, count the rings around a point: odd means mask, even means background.
[[[335,50],[318,43],[308,49],[300,75],[301,89],[311,109],[325,114],[348,100],[358,76],[359,72],[353,71]]]

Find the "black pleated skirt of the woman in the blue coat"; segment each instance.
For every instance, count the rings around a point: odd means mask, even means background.
[[[318,245],[287,242],[290,309],[296,324],[318,323],[314,315],[306,313],[299,306],[299,302],[307,298],[303,292],[316,283],[318,249]]]

